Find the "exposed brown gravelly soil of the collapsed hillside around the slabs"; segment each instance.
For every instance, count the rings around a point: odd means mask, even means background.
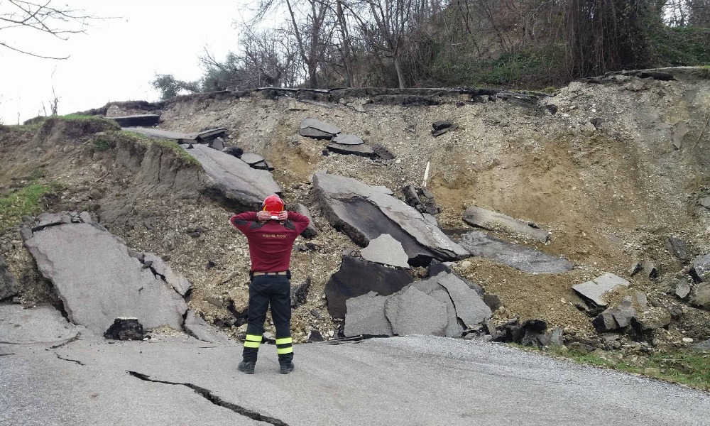
[[[427,187],[442,208],[437,217],[442,229],[452,234],[470,229],[461,214],[476,204],[547,229],[552,233],[547,244],[517,242],[575,264],[569,273],[529,275],[481,258],[459,262],[454,268],[461,275],[501,298],[503,307],[494,320],[542,319],[562,327],[568,337],[596,339],[571,287],[611,272],[630,280],[623,294],[643,291],[652,302],[683,310],[664,341],[682,346],[681,336],[709,337],[710,317],[675,300],[672,278],[686,266],[670,255],[665,243],[678,236],[691,256],[710,251],[710,212],[698,203],[709,192],[710,80],[702,69],[665,72],[675,80],[612,75],[573,82],[540,105],[466,95],[420,106],[366,93],[337,102],[266,92],[195,95],[161,105],[160,127],[185,132],[225,127],[229,146],[259,153],[275,165],[275,180],[288,203],[310,208],[321,231],[311,241],[317,249],[295,250],[292,258],[293,284],[307,278],[312,282],[307,304],[294,312],[293,328],[301,341],[312,328],[324,334],[335,331],[337,324],[325,308],[324,284],[339,268],[344,249],[356,248],[320,214],[310,175],[327,169],[386,185],[401,197],[403,185],[422,184],[429,163]],[[382,145],[395,159],[324,155],[327,142],[297,135],[306,117]],[[454,121],[458,129],[433,138],[432,123],[442,119]],[[165,256],[195,286],[191,307],[237,332],[239,322],[232,313],[241,312],[248,300],[249,252],[246,240],[227,222],[229,205],[200,193],[199,170],[166,183],[155,178],[162,160],[143,159],[151,149],[166,153],[166,160],[180,158],[179,151],[112,131],[38,147],[37,138],[26,133],[1,133],[4,190],[28,182],[33,170],[44,170],[42,180],[64,185],[47,200],[49,209],[88,209],[129,246]],[[111,148],[97,151],[97,138],[108,138]],[[127,153],[141,149],[136,155]],[[126,157],[133,163],[122,160]],[[194,170],[194,165],[176,164]],[[172,174],[175,167],[165,170]],[[0,238],[11,271],[26,273],[31,261],[19,237],[10,231]],[[645,258],[660,265],[660,278],[630,276],[631,263]],[[33,288],[31,284],[28,278],[26,287]],[[40,300],[47,294],[35,293],[28,290],[23,297]]]

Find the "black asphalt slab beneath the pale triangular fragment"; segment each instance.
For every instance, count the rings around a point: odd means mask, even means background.
[[[343,256],[339,271],[325,285],[328,312],[333,318],[344,318],[349,298],[371,291],[388,296],[411,282],[412,277],[407,271]]]

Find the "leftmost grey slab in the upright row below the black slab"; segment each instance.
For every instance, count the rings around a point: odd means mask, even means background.
[[[385,317],[387,297],[371,291],[346,300],[345,337],[392,336],[392,327]]]

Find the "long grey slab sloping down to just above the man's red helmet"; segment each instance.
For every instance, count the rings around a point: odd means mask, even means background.
[[[281,192],[271,173],[255,170],[233,155],[205,145],[193,145],[187,152],[200,161],[209,178],[207,194],[218,195],[231,207],[241,211],[258,210],[266,197]]]

